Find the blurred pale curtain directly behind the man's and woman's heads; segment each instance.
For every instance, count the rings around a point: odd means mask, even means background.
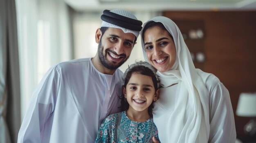
[[[143,23],[161,15],[157,11],[131,11],[138,20]],[[73,29],[74,29],[74,53],[75,58],[94,57],[97,53],[98,44],[95,42],[95,33],[97,28],[101,26],[102,11],[84,12],[74,14]],[[140,36],[137,39],[130,58],[119,69],[123,72],[128,68],[128,65],[135,62],[135,60],[143,60]]]

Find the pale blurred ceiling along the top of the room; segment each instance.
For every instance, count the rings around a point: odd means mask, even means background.
[[[256,10],[256,0],[64,0],[76,11],[127,9],[140,11]]]

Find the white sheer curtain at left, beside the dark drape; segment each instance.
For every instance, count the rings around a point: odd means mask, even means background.
[[[21,120],[46,71],[72,59],[70,19],[63,0],[16,0]]]

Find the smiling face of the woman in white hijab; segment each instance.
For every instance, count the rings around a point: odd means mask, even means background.
[[[159,26],[146,29],[144,33],[144,45],[148,62],[159,72],[171,69],[175,62],[176,50],[173,38],[168,31]]]

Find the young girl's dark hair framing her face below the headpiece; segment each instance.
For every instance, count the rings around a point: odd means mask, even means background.
[[[130,77],[132,76],[133,73],[139,73],[141,75],[147,75],[149,77],[152,78],[152,81],[153,81],[153,85],[154,85],[154,88],[155,88],[155,92],[157,91],[158,89],[158,82],[157,81],[157,78],[156,78],[156,75],[155,73],[150,70],[149,68],[147,68],[146,66],[142,66],[142,65],[136,65],[136,66],[133,66],[132,68],[130,68],[126,74],[125,77],[123,77],[123,83],[124,85],[122,87],[126,88],[126,85],[128,84],[129,80],[130,80]],[[121,108],[122,108],[122,111],[126,111],[128,110],[129,108],[129,103],[127,102],[126,98],[124,97],[124,94],[122,94],[120,96],[120,99],[121,99]],[[154,101],[153,101],[154,102]],[[153,102],[150,104],[150,106],[148,107],[148,114],[150,115],[150,117],[153,117],[153,114],[152,114],[152,109],[153,109]]]

